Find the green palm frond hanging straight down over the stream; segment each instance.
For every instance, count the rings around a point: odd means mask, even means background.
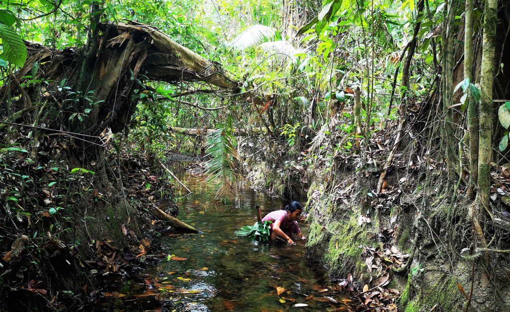
[[[223,128],[216,129],[207,136],[206,153],[211,160],[206,163],[208,182],[216,182],[219,186],[216,199],[220,200],[235,194],[233,182],[236,180],[236,160],[239,154],[236,149],[232,118],[229,116]]]

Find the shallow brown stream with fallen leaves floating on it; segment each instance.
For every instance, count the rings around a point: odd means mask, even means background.
[[[175,306],[181,311],[299,310],[294,307],[298,303],[307,304],[302,307],[305,310],[347,307],[342,304],[342,293],[331,287],[334,283],[325,270],[305,256],[305,241],[297,239],[295,246],[268,244],[234,235],[241,226],[254,223],[256,205],[262,207],[265,215],[281,209],[280,201],[256,193],[243,181],[235,200],[219,203],[214,200],[216,188],[206,182],[206,177],[189,173],[177,177],[192,191],[177,198],[179,218],[203,233],[165,237],[162,251],[173,255],[174,260],[162,261],[145,272],[156,286],[140,289],[136,299],[132,293],[119,299],[137,300],[140,304],[148,291],[150,297],[158,293],[158,299],[167,302],[163,306]],[[302,222],[300,227],[308,236],[308,227]],[[278,296],[279,287],[285,291]],[[127,289],[119,292],[126,293]],[[324,299],[325,296],[338,303]],[[122,310],[121,306],[114,308]]]

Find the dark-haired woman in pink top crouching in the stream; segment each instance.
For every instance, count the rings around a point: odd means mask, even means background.
[[[292,233],[295,233],[300,239],[306,239],[299,230],[297,218],[301,215],[303,206],[298,202],[292,202],[285,206],[285,210],[276,210],[268,213],[263,219],[264,221],[271,221],[269,224],[271,228],[271,240],[275,240],[279,236],[287,241],[289,244],[295,244],[292,240]]]

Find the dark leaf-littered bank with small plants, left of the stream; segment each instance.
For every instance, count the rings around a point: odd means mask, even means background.
[[[83,298],[71,290],[93,301],[104,289],[139,279],[136,272],[140,266],[166,257],[152,240],[171,228],[147,210],[158,205],[176,215],[178,209],[170,183],[156,176],[160,171],[153,171],[145,157],[121,155],[125,205],[138,216],[132,216],[131,223],[118,224],[115,230],[108,228],[117,238],[104,238],[105,233],[96,230],[111,226],[116,216],[103,212],[105,224],[94,225],[97,216],[91,214],[91,207],[122,203],[122,195],[103,184],[94,163],[84,168],[70,157],[80,141],[24,127],[10,129],[9,136],[10,145],[0,149],[0,267],[6,300],[22,304],[16,298],[31,293],[31,299],[42,299],[41,305],[48,308],[80,306]],[[105,162],[107,173],[112,173],[112,181],[118,184],[117,158],[109,160]],[[145,233],[141,239],[140,228]],[[69,278],[75,279],[81,272],[88,272],[92,283],[69,284]],[[75,287],[83,289],[78,292]],[[59,296],[61,289],[69,292]]]

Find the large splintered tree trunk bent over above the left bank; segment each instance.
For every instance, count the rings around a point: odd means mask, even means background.
[[[63,115],[56,122],[68,123],[64,126],[73,132],[98,135],[106,128],[119,132],[126,127],[137,102],[145,96],[141,92],[144,81],[203,81],[238,93],[238,83],[228,79],[218,65],[150,26],[120,23],[98,27],[103,34],[93,60],[86,64],[83,55],[90,53],[83,49],[55,50],[27,43],[29,58],[14,74],[19,83],[4,84],[0,96],[17,98],[17,110],[30,100],[54,102]],[[89,64],[85,82],[80,78],[83,64]],[[44,88],[29,80],[43,81]]]

